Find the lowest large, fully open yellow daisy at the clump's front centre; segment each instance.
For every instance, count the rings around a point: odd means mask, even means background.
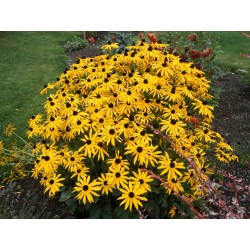
[[[147,201],[148,199],[141,196],[145,191],[140,185],[132,185],[131,182],[128,183],[128,186],[125,186],[124,189],[119,189],[122,192],[122,196],[118,200],[123,200],[120,203],[120,206],[125,204],[125,210],[129,208],[132,211],[134,206],[136,210],[139,209],[139,206],[142,206],[141,201]]]

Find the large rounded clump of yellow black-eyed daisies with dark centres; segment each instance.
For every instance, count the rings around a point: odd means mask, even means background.
[[[93,205],[92,212],[105,204],[174,216],[178,195],[191,203],[206,195],[211,159],[237,156],[211,128],[204,72],[167,44],[116,48],[109,43],[106,54],[79,58],[44,86],[46,116],[32,116],[27,132],[37,140],[32,175],[50,196],[60,190],[62,201]]]

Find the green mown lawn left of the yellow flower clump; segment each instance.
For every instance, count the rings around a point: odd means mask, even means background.
[[[27,121],[43,112],[40,90],[67,66],[63,45],[79,32],[0,33],[0,140],[12,123],[25,137]]]

